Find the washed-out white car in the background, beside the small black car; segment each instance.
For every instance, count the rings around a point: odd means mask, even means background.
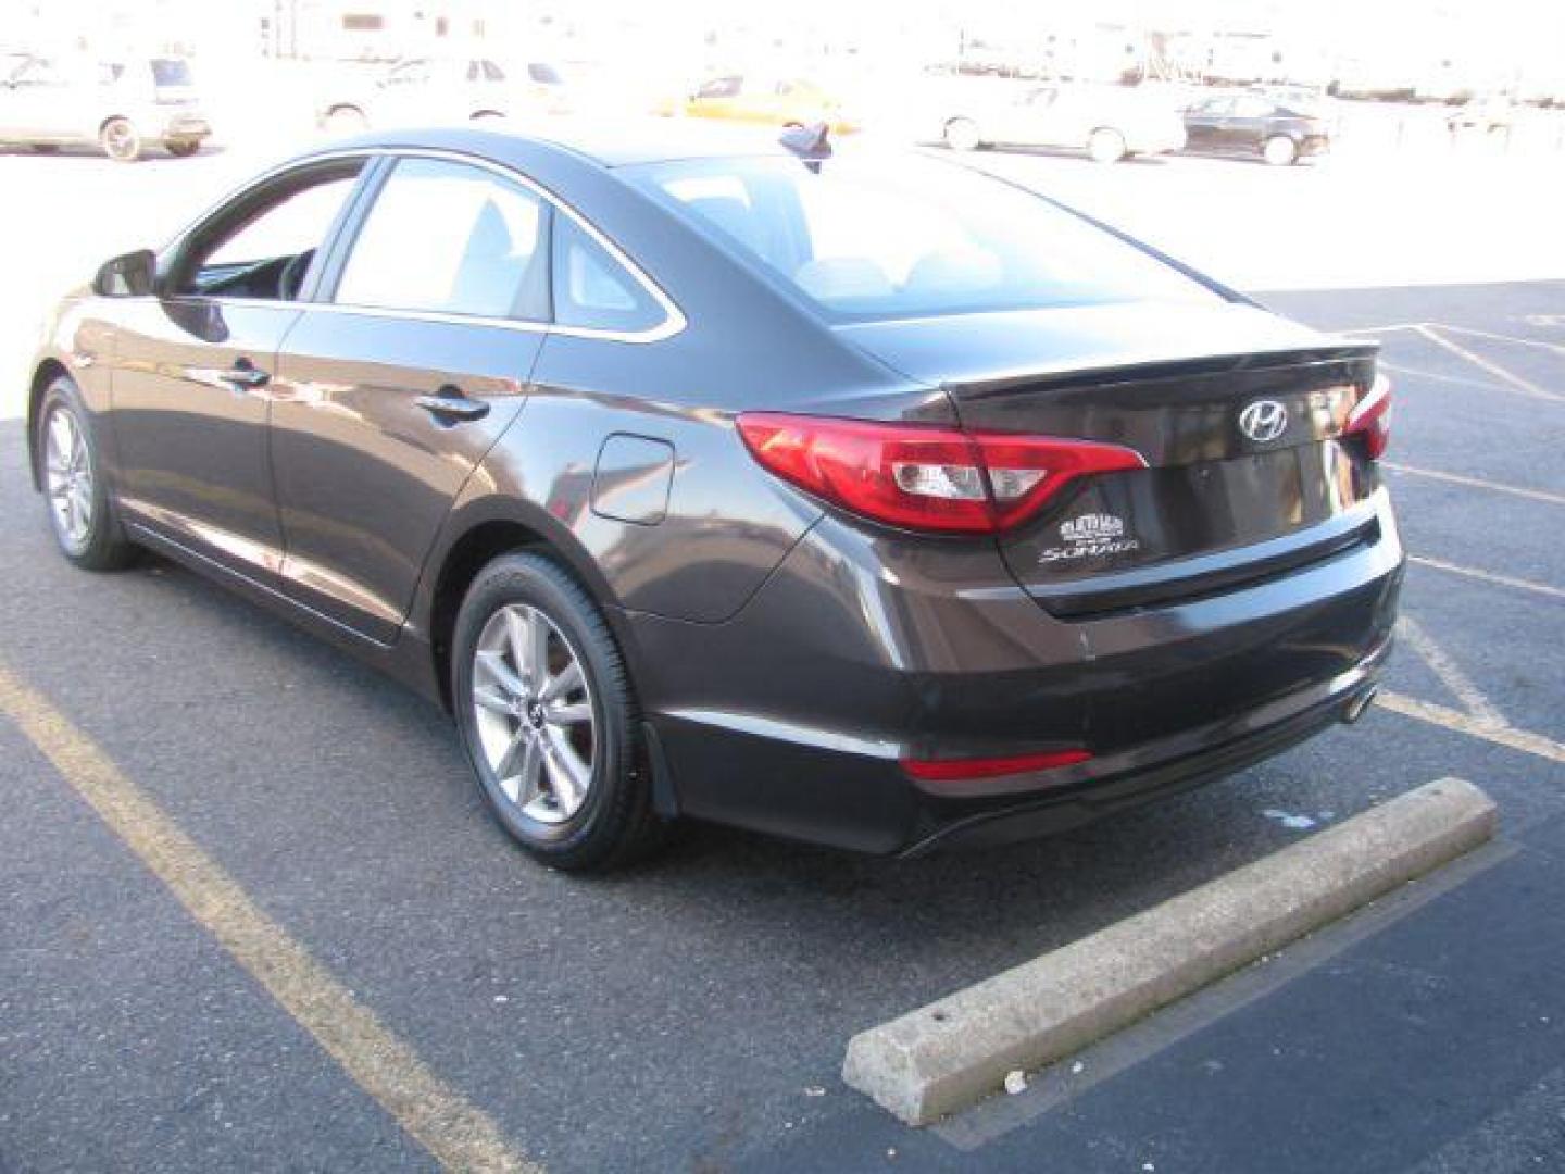
[[[947,86],[936,117],[937,138],[953,150],[1056,147],[1117,163],[1185,147],[1174,105],[1130,86],[975,78]]]

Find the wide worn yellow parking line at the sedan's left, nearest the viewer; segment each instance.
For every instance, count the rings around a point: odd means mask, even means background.
[[[374,1011],[268,917],[239,884],[49,700],[0,664],[9,717],[191,917],[233,955],[343,1071],[446,1169],[538,1171]]]

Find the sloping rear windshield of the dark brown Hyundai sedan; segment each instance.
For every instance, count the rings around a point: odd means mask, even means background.
[[[787,157],[701,158],[626,174],[839,321],[1219,301],[1080,216],[919,155],[844,152],[818,172]]]

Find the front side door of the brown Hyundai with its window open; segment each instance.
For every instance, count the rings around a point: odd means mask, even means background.
[[[277,349],[360,166],[260,185],[175,247],[158,296],[121,302],[111,420],[127,521],[264,584],[282,565],[268,456]]]

